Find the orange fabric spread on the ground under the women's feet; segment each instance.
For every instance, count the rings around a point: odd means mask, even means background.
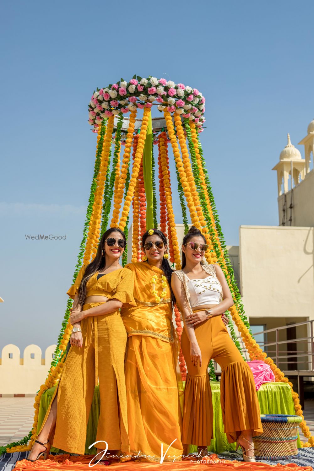
[[[70,456],[56,455],[49,456],[48,460],[39,460],[34,463],[21,460],[16,463],[13,471],[104,471],[103,464],[96,464],[89,468],[89,462],[93,456]],[[211,462],[210,462],[211,460]],[[209,466],[214,466],[214,471],[313,471],[311,466],[298,466],[297,464],[277,464],[270,465],[264,463],[244,463],[243,461],[219,460],[217,455],[208,457],[209,463],[192,463],[189,458],[175,463],[139,463],[137,461],[128,461],[127,463],[117,463],[113,461],[109,464],[110,470],[119,471],[153,471],[162,469],[162,471],[184,471],[187,469],[197,471],[208,471]]]

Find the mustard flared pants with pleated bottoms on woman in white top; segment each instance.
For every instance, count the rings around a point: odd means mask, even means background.
[[[253,374],[230,337],[221,316],[215,316],[194,327],[201,349],[202,365],[193,366],[190,341],[181,336],[181,348],[187,366],[183,409],[182,442],[209,446],[213,437],[213,407],[207,368],[213,358],[221,367],[220,401],[225,433],[229,443],[236,441],[242,430],[262,433],[260,409]]]

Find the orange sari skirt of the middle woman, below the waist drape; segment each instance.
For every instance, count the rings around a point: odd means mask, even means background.
[[[148,335],[129,336],[125,381],[130,453],[140,461],[159,462],[161,444],[162,455],[167,452],[165,462],[181,460],[182,412],[176,366],[176,344]]]

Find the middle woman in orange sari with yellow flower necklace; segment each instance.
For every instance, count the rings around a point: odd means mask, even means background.
[[[130,454],[140,452],[141,461],[160,462],[165,454],[164,461],[175,457],[180,461],[183,387],[177,361],[179,342],[172,324],[172,270],[164,258],[167,240],[161,231],[150,229],[143,235],[142,245],[147,261],[125,266],[134,273],[137,306],[121,308],[128,334],[125,381]]]

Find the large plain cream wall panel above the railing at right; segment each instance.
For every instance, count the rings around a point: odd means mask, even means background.
[[[250,318],[314,318],[314,227],[240,226],[240,273]]]

